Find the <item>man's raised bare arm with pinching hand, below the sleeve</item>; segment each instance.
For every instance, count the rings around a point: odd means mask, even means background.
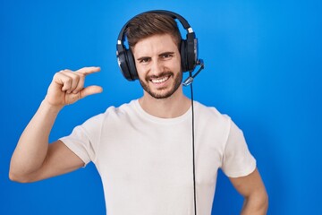
[[[48,143],[48,137],[59,111],[86,96],[102,91],[101,87],[84,88],[85,76],[96,73],[99,67],[84,67],[55,73],[47,96],[21,134],[13,151],[9,177],[13,181],[33,182],[70,172],[84,165],[63,142]]]

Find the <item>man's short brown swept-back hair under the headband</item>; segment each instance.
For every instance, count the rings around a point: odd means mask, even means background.
[[[181,34],[177,22],[169,15],[160,13],[142,13],[134,17],[125,31],[129,46],[134,47],[140,39],[157,34],[170,34],[180,50]]]

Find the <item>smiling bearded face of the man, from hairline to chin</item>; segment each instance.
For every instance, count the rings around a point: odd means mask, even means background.
[[[165,99],[181,86],[181,56],[169,34],[141,39],[132,50],[140,84],[150,96]]]

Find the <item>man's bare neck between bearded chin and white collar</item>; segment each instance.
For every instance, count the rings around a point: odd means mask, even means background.
[[[150,115],[160,118],[174,118],[182,116],[191,107],[191,100],[182,93],[182,87],[166,99],[155,99],[146,91],[139,99],[140,106]]]

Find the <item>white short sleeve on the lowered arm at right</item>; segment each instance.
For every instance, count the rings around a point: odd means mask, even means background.
[[[226,176],[247,176],[256,168],[256,160],[250,154],[242,130],[231,121],[225,144],[222,169]]]

